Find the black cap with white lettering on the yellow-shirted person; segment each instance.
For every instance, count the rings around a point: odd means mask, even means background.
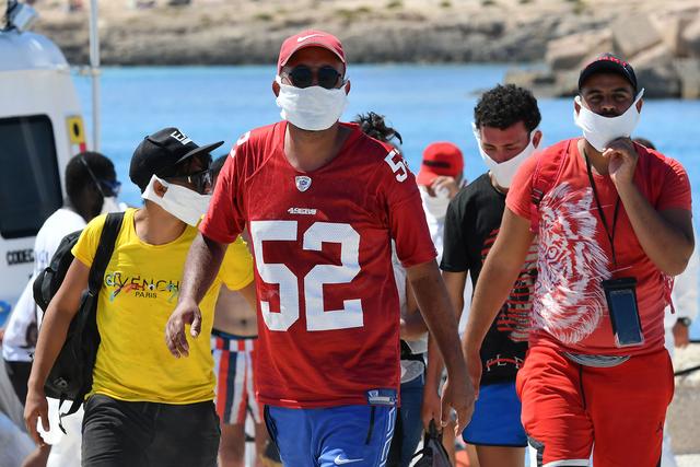
[[[198,145],[187,135],[174,127],[163,128],[148,136],[133,151],[129,178],[142,190],[153,175],[173,176],[175,166],[195,155],[209,154],[223,141]]]

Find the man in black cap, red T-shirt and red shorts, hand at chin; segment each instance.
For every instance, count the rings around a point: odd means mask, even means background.
[[[693,249],[682,166],[632,143],[641,95],[632,67],[604,54],[581,72],[583,138],[520,168],[467,325],[479,347],[538,235],[533,329],[516,388],[530,465],[656,466],[673,369],[664,308]]]

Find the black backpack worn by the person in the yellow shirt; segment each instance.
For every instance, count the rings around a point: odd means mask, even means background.
[[[78,313],[70,322],[66,342],[44,384],[46,396],[59,399],[59,409],[65,400],[72,400],[68,411],[60,415],[61,420],[65,416],[78,411],[85,395],[92,388],[92,371],[100,347],[96,320],[97,296],[122,219],[124,212],[107,214],[95,258],[90,268],[89,288],[83,294]],[[63,237],[51,257],[50,265],[34,280],[34,301],[44,313],[61,287],[68,268],[73,261],[71,249],[78,243],[80,233],[81,231],[73,232]],[[59,423],[59,427],[65,433],[62,423]]]

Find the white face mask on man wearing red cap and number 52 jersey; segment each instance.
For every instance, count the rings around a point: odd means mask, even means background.
[[[296,87],[282,84],[280,77],[275,78],[280,85],[277,105],[282,109],[282,119],[303,130],[327,130],[338,121],[348,105],[346,86],[327,90],[322,86]]]

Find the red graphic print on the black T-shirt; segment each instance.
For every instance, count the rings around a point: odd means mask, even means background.
[[[500,230],[500,227],[492,230],[485,240],[483,248],[481,249],[482,262],[486,261],[486,257],[491,250]],[[537,243],[533,242],[517,280],[513,284],[508,300],[495,317],[497,329],[501,332],[506,332],[513,342],[527,342],[530,329],[530,310],[533,306],[530,293],[534,291],[536,279]],[[498,358],[494,359],[492,363],[491,361],[487,362],[487,367],[490,366],[490,364],[498,364],[499,362],[495,360],[498,360]],[[520,364],[516,362],[511,363],[515,363],[515,365],[520,367]]]

